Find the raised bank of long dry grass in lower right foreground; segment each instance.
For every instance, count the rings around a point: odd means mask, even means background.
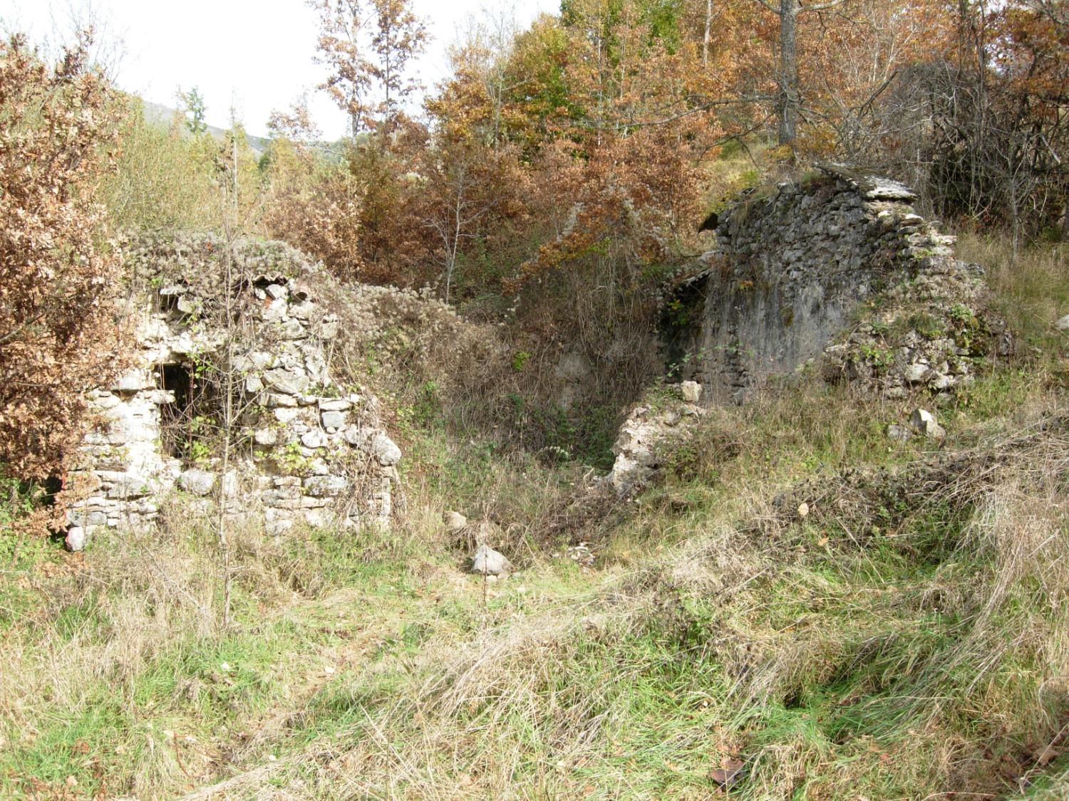
[[[816,512],[768,506],[774,540],[722,522],[578,595],[505,587],[476,630],[324,687],[311,727],[344,723],[273,769],[279,797],[708,798],[733,757],[740,798],[1006,797],[1069,720],[1069,438],[1037,426],[971,453],[907,471],[911,547],[821,544]],[[951,503],[970,512],[946,531]],[[933,525],[949,538],[921,556]],[[228,797],[262,788],[251,772]]]

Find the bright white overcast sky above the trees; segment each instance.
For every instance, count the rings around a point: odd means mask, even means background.
[[[289,108],[324,77],[312,62],[315,13],[303,0],[0,0],[0,29],[21,30],[34,42],[71,28],[71,9],[91,6],[106,36],[121,38],[119,84],[146,100],[173,107],[175,91],[198,87],[207,122],[230,124],[230,107],[250,134],[266,132],[274,109]],[[414,0],[432,40],[416,66],[428,88],[447,73],[446,48],[471,15],[514,7],[526,25],[559,0]],[[345,132],[345,119],[322,93],[312,96],[316,124],[328,139]]]

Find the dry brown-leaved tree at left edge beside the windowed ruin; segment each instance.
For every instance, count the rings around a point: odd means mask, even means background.
[[[0,464],[29,478],[60,470],[82,393],[117,366],[118,263],[91,198],[115,120],[87,45],[49,68],[24,37],[0,44]]]

